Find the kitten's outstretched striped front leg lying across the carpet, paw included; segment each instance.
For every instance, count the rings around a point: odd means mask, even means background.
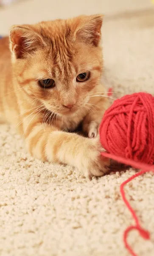
[[[50,125],[44,130],[39,117],[29,125],[28,120],[22,125],[28,151],[34,157],[75,166],[89,178],[102,176],[108,170],[109,160],[101,157],[98,139],[90,140],[75,133],[59,131]]]

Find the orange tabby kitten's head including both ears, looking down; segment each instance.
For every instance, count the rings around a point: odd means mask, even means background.
[[[83,108],[102,71],[102,15],[13,26],[14,74],[31,97],[59,115]]]

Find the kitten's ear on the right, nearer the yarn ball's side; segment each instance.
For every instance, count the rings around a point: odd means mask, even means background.
[[[98,46],[101,40],[103,15],[79,16],[76,20],[76,38]]]

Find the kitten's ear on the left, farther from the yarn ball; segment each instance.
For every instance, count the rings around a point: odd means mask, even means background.
[[[41,35],[35,32],[31,26],[12,26],[10,29],[11,51],[16,58],[24,58],[27,53],[31,53],[44,46],[45,42]]]

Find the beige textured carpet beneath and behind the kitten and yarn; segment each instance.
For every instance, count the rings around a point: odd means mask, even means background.
[[[104,83],[114,97],[154,93],[154,12],[106,17]],[[133,224],[119,192],[130,169],[87,182],[75,169],[35,160],[0,125],[0,256],[128,256],[123,231]],[[129,236],[138,256],[154,256],[154,175],[125,189],[151,241]]]

